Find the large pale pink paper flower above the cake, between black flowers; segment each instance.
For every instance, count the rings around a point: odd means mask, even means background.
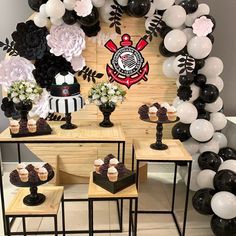
[[[51,53],[71,61],[73,57],[80,56],[85,49],[85,34],[78,24],[53,25],[47,42]]]

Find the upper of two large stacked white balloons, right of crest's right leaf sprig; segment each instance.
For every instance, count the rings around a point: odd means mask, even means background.
[[[179,28],[186,20],[186,11],[183,7],[174,5],[169,7],[163,14],[163,21],[171,28]]]

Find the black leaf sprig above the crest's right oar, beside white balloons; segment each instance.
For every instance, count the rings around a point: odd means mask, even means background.
[[[146,30],[146,35],[143,36],[145,40],[149,40],[150,42],[153,40],[153,37],[158,37],[158,33],[160,32],[161,28],[163,27],[163,20],[162,17],[155,13],[153,19]]]

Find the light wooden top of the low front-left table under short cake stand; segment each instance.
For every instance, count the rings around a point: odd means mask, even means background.
[[[29,188],[20,188],[10,205],[6,209],[6,215],[56,215],[59,210],[64,187],[44,186],[38,188],[38,193],[46,196],[46,200],[39,206],[26,206],[23,199],[27,196]]]

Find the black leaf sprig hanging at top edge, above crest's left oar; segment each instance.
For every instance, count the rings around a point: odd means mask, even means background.
[[[121,23],[120,20],[122,18],[122,15],[124,13],[122,6],[116,1],[114,0],[114,5],[111,5],[111,8],[113,9],[110,12],[110,18],[109,21],[111,21],[112,23],[110,24],[110,28],[115,27],[115,31],[117,34],[121,34]]]

